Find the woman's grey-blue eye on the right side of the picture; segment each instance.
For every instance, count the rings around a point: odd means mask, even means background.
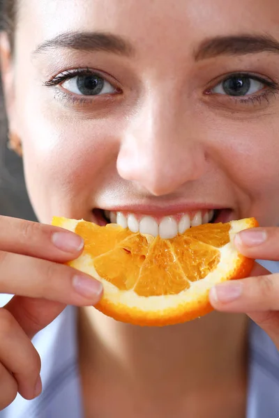
[[[265,84],[257,79],[247,75],[234,75],[212,88],[211,92],[229,96],[245,96],[257,93],[264,87]]]

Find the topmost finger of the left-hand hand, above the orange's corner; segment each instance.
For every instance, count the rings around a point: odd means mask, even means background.
[[[63,263],[83,246],[82,237],[58,226],[0,216],[0,251]]]

